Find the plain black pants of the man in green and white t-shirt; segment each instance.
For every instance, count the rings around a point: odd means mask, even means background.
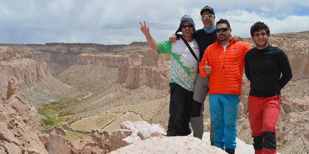
[[[170,83],[170,89],[170,117],[166,136],[187,136],[191,134],[189,122],[193,91],[188,91],[177,83]]]

